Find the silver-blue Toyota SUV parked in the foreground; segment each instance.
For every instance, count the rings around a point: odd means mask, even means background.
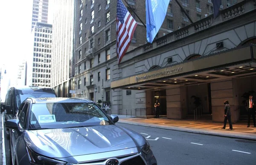
[[[6,122],[15,165],[157,165],[146,139],[86,98],[27,98]]]

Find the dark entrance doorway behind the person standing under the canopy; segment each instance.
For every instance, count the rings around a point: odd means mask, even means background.
[[[165,89],[160,91],[154,91],[154,103],[156,101],[160,103],[160,115],[166,115],[166,90]]]

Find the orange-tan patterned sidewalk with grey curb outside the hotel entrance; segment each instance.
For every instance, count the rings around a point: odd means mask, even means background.
[[[247,128],[247,124],[233,124],[233,130],[229,129],[227,123],[226,129],[222,129],[223,123],[220,122],[201,122],[194,120],[177,120],[177,119],[141,119],[134,117],[126,117],[126,115],[118,115],[119,122],[150,126],[156,128],[164,128],[176,131],[186,131],[200,134],[209,134],[223,137],[235,137],[241,139],[256,140],[256,128]]]

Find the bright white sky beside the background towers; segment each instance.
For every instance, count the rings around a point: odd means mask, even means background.
[[[48,23],[52,23],[52,2]],[[32,6],[33,0],[0,0],[0,68],[12,78],[17,78],[17,65],[32,56]]]

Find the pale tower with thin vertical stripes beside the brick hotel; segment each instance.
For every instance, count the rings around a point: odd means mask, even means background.
[[[58,97],[67,97],[72,88],[75,0],[54,0],[54,6],[51,87]]]

